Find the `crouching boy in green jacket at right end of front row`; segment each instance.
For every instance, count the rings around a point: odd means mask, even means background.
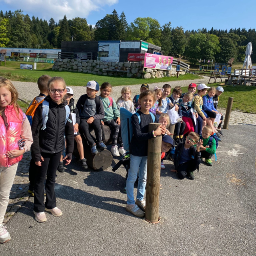
[[[209,143],[209,139],[212,133],[212,129],[210,126],[206,125],[202,130],[202,139],[203,144],[200,146],[201,158],[205,157],[205,163],[209,166],[212,166],[211,157],[216,153],[216,141],[212,138],[211,143]]]

